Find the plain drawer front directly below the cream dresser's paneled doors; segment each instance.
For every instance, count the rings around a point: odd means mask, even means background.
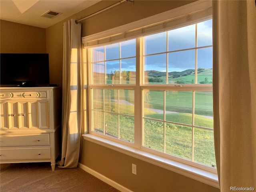
[[[7,146],[47,146],[49,134],[6,134],[0,136],[1,147]]]

